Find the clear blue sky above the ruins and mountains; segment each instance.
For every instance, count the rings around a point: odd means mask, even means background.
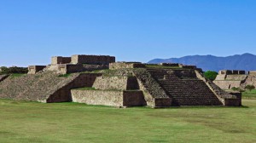
[[[256,54],[255,0],[0,0],[0,66]]]

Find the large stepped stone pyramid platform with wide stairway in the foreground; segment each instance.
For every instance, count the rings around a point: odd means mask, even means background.
[[[241,94],[218,88],[196,66],[115,62],[106,55],[52,57],[49,66],[0,77],[0,98],[104,106],[241,106]]]

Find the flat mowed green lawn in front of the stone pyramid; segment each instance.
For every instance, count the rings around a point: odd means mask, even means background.
[[[0,142],[256,142],[244,107],[114,108],[0,100]]]

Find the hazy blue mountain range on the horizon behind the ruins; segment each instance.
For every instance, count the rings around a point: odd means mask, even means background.
[[[254,54],[236,54],[227,57],[218,57],[213,55],[189,55],[181,58],[154,59],[148,61],[150,64],[158,63],[182,63],[184,65],[195,65],[202,68],[203,71],[219,70],[245,70],[256,71],[256,55]]]

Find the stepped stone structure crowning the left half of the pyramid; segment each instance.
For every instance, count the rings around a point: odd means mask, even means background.
[[[29,66],[28,74],[39,71],[52,71],[61,74],[74,72],[91,72],[108,69],[109,63],[115,62],[114,56],[74,54],[71,57],[53,56],[49,66]]]

